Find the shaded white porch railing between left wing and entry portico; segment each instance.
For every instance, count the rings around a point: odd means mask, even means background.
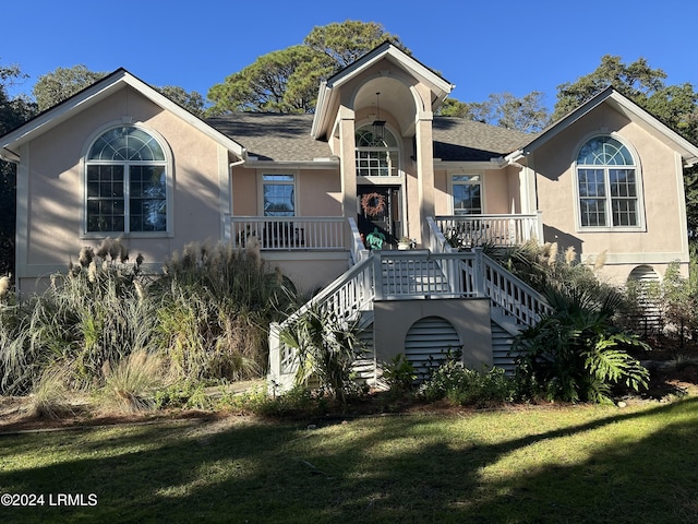
[[[253,238],[263,250],[347,249],[352,235],[341,216],[226,216],[226,235],[236,248]]]

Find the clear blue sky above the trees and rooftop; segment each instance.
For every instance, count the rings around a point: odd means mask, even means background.
[[[541,91],[552,107],[557,85],[593,71],[603,55],[626,63],[645,57],[667,83],[698,88],[691,0],[35,0],[7,2],[1,12],[0,63],[29,75],[12,95],[56,68],[84,64],[123,67],[149,84],[205,96],[258,56],[346,20],[383,24],[456,84],[453,96],[464,102]]]

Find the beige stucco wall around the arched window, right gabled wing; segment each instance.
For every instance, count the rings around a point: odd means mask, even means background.
[[[582,229],[578,225],[574,160],[579,146],[594,134],[612,134],[637,157],[642,182],[643,227],[638,230]],[[663,274],[673,260],[687,262],[683,174],[677,155],[651,133],[606,105],[601,105],[527,157],[537,171],[539,209],[545,240],[574,246],[582,261],[605,252],[602,271],[625,281],[630,271],[649,264]]]

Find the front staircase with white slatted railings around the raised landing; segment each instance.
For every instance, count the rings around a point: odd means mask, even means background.
[[[437,248],[438,249],[438,248]],[[268,382],[276,391],[289,389],[298,369],[294,352],[279,342],[279,333],[310,308],[332,311],[337,319],[359,319],[371,353],[357,362],[365,380],[376,378],[372,347],[373,306],[381,300],[438,300],[488,298],[490,300],[493,361],[513,370],[507,357],[513,337],[533,325],[550,307],[537,291],[485,255],[482,250],[374,251],[315,296],[308,305],[269,333]]]

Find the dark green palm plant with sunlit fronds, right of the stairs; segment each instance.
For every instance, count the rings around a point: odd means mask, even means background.
[[[533,396],[610,402],[613,388],[647,388],[649,371],[628,347],[649,349],[637,335],[614,327],[619,294],[595,296],[575,286],[549,287],[554,313],[518,335],[512,346],[517,379]]]

